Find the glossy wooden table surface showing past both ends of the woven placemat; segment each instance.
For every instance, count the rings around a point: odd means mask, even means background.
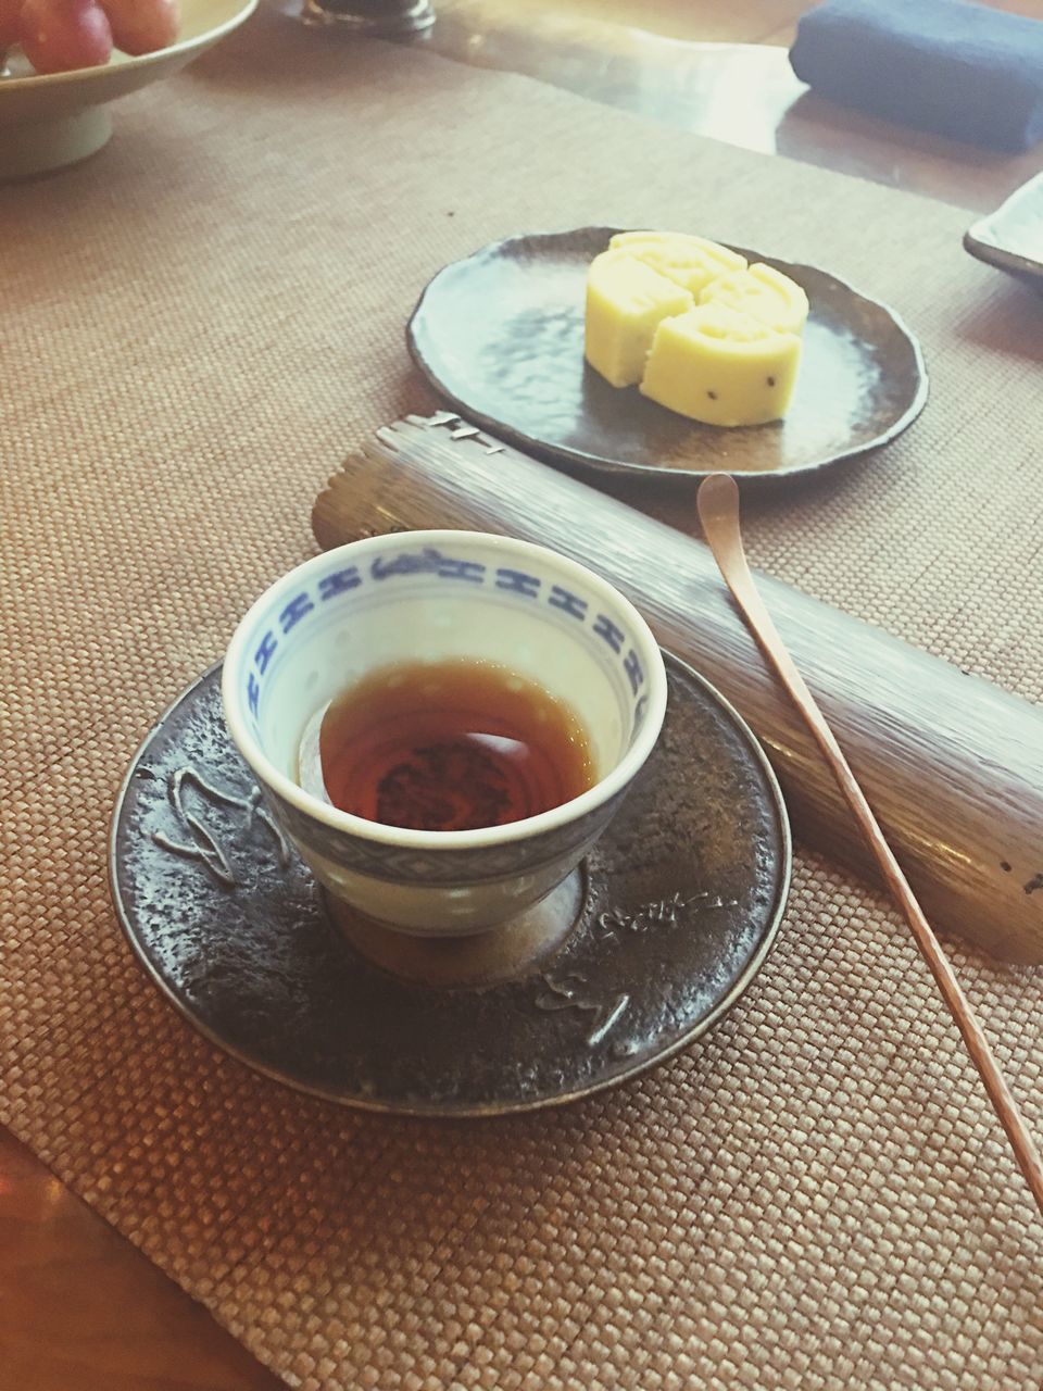
[[[1039,0],[996,3],[1039,14]],[[435,0],[435,7],[438,22],[421,42],[452,58],[940,198],[968,214],[994,207],[1043,163],[1040,152],[989,154],[808,93],[786,58],[808,7],[800,0]],[[0,1127],[0,1387],[280,1385]]]

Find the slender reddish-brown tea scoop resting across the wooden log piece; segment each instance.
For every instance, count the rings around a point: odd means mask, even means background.
[[[743,611],[750,630],[763,650],[765,657],[775,668],[793,704],[811,730],[815,743],[822,750],[830,772],[844,794],[844,800],[854,812],[855,821],[880,867],[887,887],[904,912],[905,921],[916,939],[916,946],[928,963],[930,974],[935,976],[950,1014],[955,1020],[971,1060],[978,1068],[978,1075],[982,1078],[985,1089],[989,1093],[989,1100],[993,1103],[1000,1124],[1011,1142],[1018,1167],[1032,1189],[1032,1196],[1036,1199],[1040,1214],[1043,1214],[1043,1160],[1022,1120],[1018,1104],[1010,1093],[1003,1072],[993,1057],[989,1040],[923,910],[916,901],[916,896],[909,887],[901,865],[894,858],[891,847],[887,844],[876,817],[865,800],[840,744],[833,736],[833,730],[826,723],[822,711],[815,702],[815,697],[797,670],[754,584],[745,551],[743,549],[743,536],[738,529],[738,487],[736,480],[727,473],[712,474],[700,485],[697,506],[704,536],[709,542],[725,583],[731,591],[736,604]]]

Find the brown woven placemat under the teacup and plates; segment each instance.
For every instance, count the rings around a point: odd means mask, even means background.
[[[115,117],[93,163],[0,192],[0,1120],[312,1391],[1037,1391],[1043,1227],[907,935],[826,864],[683,1057],[432,1124],[193,1035],[117,929],[106,832],[341,456],[431,408],[424,282],[523,230],[687,227],[893,302],[925,416],[759,501],[751,551],[1039,698],[1043,303],[953,209],[274,17]],[[955,958],[1039,1132],[1043,978]]]

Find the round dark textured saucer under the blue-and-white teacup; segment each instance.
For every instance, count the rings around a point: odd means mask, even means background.
[[[147,736],[117,803],[110,875],[131,946],[211,1042],[335,1102],[499,1114],[644,1071],[750,986],[790,879],[761,747],[700,676],[666,665],[659,746],[562,892],[574,926],[515,976],[453,988],[381,968],[352,944],[364,950],[364,924],[334,924],[228,739],[211,668]]]

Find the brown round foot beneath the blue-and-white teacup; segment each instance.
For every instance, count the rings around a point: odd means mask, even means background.
[[[356,951],[391,975],[439,988],[474,988],[522,978],[567,942],[585,903],[587,872],[579,868],[540,903],[488,932],[419,938],[325,896],[327,912]]]

